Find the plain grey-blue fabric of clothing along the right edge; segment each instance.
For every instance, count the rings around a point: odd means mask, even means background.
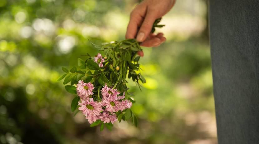
[[[210,0],[219,144],[259,143],[259,0]]]

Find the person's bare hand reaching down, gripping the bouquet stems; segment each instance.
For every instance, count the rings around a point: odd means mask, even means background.
[[[166,41],[163,33],[151,34],[153,23],[173,7],[175,0],[144,0],[130,14],[126,38],[135,38],[141,46],[156,47]],[[142,55],[141,55],[142,53]],[[143,52],[138,53],[143,56]]]

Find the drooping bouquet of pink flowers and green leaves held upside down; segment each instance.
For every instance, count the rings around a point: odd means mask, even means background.
[[[152,33],[155,27],[164,26],[157,25],[160,20],[154,22]],[[125,39],[93,45],[100,53],[93,57],[87,54],[86,60],[78,58],[80,70],[76,66],[70,71],[62,67],[66,74],[58,80],[65,78],[63,84],[71,84],[65,86],[66,91],[77,94],[72,100],[71,111],[81,111],[90,127],[100,125],[100,131],[104,126],[111,130],[113,124],[121,120],[132,119],[137,126],[137,117],[130,109],[135,100],[126,83],[132,79],[140,88],[139,82],[146,82],[139,68],[137,52],[142,51],[139,42]]]

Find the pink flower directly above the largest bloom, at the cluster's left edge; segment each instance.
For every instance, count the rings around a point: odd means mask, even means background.
[[[84,83],[84,81],[82,80],[78,81],[78,84],[76,84],[76,86],[76,92],[79,95],[79,97],[83,100],[92,95],[93,89],[95,88],[93,84]]]

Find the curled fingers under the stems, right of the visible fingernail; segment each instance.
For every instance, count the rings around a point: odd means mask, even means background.
[[[159,33],[157,35],[150,34],[149,38],[147,38],[143,43],[140,44],[140,46],[144,47],[157,47],[161,43],[164,43],[166,41],[166,38],[164,37],[163,33]]]

